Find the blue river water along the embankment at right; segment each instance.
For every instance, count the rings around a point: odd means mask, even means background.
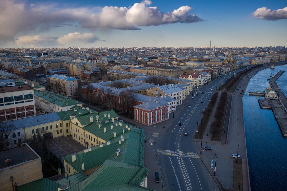
[[[287,97],[287,65],[259,71],[251,78],[246,91],[269,87],[271,72],[285,72],[277,80]],[[260,97],[263,98],[264,97]],[[287,138],[280,132],[272,110],[260,109],[259,97],[243,96],[243,112],[251,190],[287,190]]]

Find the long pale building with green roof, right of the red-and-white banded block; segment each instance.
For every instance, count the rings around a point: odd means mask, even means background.
[[[66,98],[60,94],[34,90],[35,107],[44,113],[55,113],[69,110],[75,105],[82,107],[83,103],[74,99]]]

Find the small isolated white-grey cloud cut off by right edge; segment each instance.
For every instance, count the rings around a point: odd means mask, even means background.
[[[287,19],[287,7],[271,11],[267,7],[258,8],[252,13],[256,19],[263,19],[269,21],[276,21],[280,19]]]

